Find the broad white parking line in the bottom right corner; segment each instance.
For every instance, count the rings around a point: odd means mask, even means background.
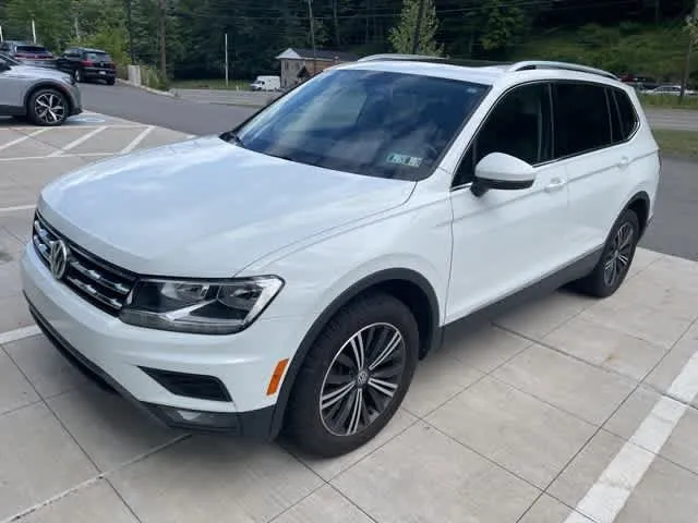
[[[615,521],[696,396],[698,351],[688,360],[666,396],[662,396],[657,402],[575,510],[597,523]],[[581,521],[587,520],[573,512],[565,523]]]

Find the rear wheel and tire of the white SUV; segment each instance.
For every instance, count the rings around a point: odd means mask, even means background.
[[[574,288],[594,297],[606,297],[617,291],[630,269],[639,236],[637,214],[627,209],[614,223],[594,269],[576,281]]]

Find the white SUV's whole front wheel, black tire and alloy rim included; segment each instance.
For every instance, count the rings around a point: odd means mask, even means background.
[[[371,440],[402,402],[418,352],[417,323],[399,300],[372,294],[341,309],[296,380],[287,410],[296,445],[333,457]]]

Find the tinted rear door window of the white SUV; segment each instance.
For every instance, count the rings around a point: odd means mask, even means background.
[[[611,144],[611,118],[603,86],[555,84],[555,157]]]

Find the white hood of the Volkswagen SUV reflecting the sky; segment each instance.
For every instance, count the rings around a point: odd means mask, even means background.
[[[93,163],[45,187],[38,208],[71,241],[125,269],[222,278],[399,206],[413,187],[206,137]]]

